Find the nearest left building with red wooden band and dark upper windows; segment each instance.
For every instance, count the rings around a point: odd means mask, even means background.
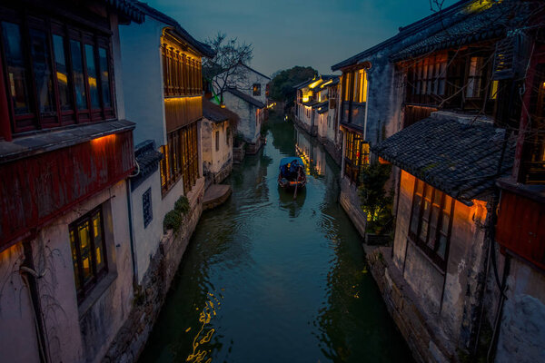
[[[132,309],[130,1],[0,5],[0,352],[99,362]]]

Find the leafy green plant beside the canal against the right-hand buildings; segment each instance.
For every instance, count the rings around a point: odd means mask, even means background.
[[[362,211],[367,217],[365,242],[386,244],[393,232],[393,192],[384,189],[391,175],[391,164],[372,163],[362,169],[359,187]]]

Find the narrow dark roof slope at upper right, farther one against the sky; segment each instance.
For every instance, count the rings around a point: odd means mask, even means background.
[[[460,16],[461,9],[463,9],[465,6],[472,3],[473,1],[474,0],[461,0],[451,6],[448,6],[442,9],[441,11],[438,11],[437,13],[426,16],[422,18],[421,20],[414,22],[411,25],[401,27],[400,32],[398,34],[393,35],[391,38],[386,39],[382,43],[376,44],[359,54],[355,54],[352,57],[338,64],[333,64],[332,70],[337,71],[343,67],[346,67],[352,64],[357,64],[358,62],[372,56],[372,54],[376,54],[393,44],[397,44],[403,40],[406,40],[411,35],[418,34],[421,31],[431,28],[432,25],[438,25],[440,23],[441,25],[446,25],[448,22]]]

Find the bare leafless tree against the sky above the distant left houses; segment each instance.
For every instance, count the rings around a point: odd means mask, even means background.
[[[253,45],[239,43],[237,38],[227,39],[219,33],[206,40],[215,52],[211,59],[203,61],[203,76],[218,94],[227,88],[240,88],[245,84],[244,65],[253,58]],[[223,101],[223,97],[222,97]]]

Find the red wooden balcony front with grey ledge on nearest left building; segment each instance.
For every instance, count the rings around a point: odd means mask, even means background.
[[[42,134],[0,161],[0,251],[133,172],[133,129],[115,121]]]

